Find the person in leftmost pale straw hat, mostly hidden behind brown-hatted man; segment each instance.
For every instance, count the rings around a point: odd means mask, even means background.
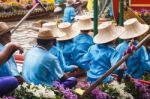
[[[53,35],[56,37],[56,38],[59,38],[59,37],[63,37],[65,36],[66,34],[65,33],[62,33],[58,27],[57,27],[57,24],[56,22],[49,22],[49,23],[44,23],[42,25],[42,28],[43,29],[50,29],[52,31],[52,33],[54,33]],[[74,66],[74,65],[71,65],[71,66],[67,66],[66,65],[66,62],[65,62],[65,59],[64,59],[64,56],[63,56],[63,52],[61,49],[59,49],[57,46],[56,46],[56,39],[53,39],[52,40],[53,42],[53,46],[50,48],[50,53],[52,53],[54,56],[56,56],[59,60],[59,63],[62,67],[62,70],[64,72],[71,72],[71,71],[74,71],[77,66]]]

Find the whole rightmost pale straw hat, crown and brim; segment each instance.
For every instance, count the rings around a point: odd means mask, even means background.
[[[120,35],[121,39],[131,39],[146,33],[149,30],[147,24],[141,24],[136,18],[124,22],[125,31]]]

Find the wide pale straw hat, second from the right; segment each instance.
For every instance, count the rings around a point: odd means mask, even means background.
[[[99,25],[98,34],[94,37],[94,43],[103,44],[115,40],[124,31],[123,27],[113,26],[112,22],[107,21]]]

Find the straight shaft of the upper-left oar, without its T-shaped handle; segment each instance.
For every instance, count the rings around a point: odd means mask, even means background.
[[[31,14],[31,12],[39,5],[39,3],[36,3],[29,11],[28,13],[19,21],[19,23],[15,26],[12,33],[16,31],[16,29],[23,23],[24,20],[28,18],[28,16]]]

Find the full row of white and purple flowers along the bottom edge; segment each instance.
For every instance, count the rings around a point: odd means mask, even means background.
[[[90,84],[85,81],[78,82],[72,89],[65,88],[57,81],[53,87],[24,83],[11,94],[12,97],[4,96],[2,99],[79,99],[89,87]],[[112,81],[96,87],[86,99],[150,99],[150,86],[129,78],[121,84]]]

